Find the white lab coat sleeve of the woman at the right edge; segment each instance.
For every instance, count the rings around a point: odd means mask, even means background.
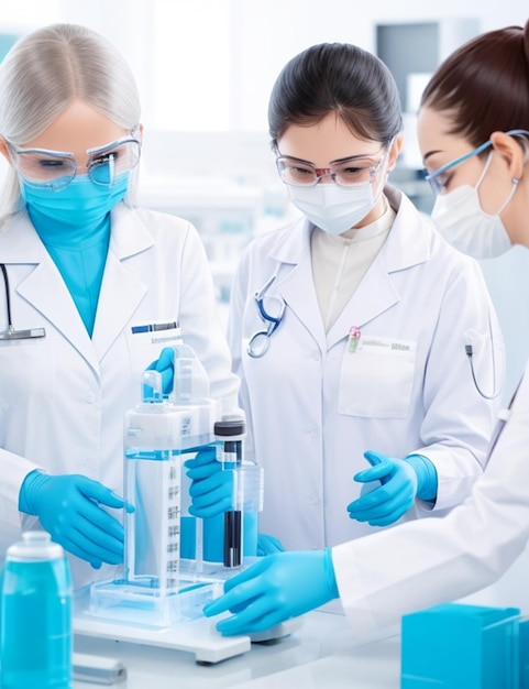
[[[502,413],[485,473],[442,520],[403,524],[332,550],[342,605],[359,637],[403,614],[493,583],[529,538],[529,369]]]

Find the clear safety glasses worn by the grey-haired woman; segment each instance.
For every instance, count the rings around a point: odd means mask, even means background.
[[[134,131],[132,132],[134,134]],[[33,187],[60,192],[74,179],[77,165],[73,153],[46,149],[15,149],[10,145],[16,172]],[[112,186],[114,179],[130,172],[140,160],[141,142],[134,135],[122,136],[103,146],[88,149],[87,174],[95,184]]]

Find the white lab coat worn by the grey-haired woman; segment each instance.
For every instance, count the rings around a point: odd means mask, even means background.
[[[239,383],[217,320],[206,252],[189,222],[123,204],[112,211],[91,339],[25,211],[0,230],[0,261],[14,327],[46,330],[40,339],[0,340],[3,557],[20,536],[19,492],[33,469],[81,473],[122,494],[123,414],[140,401],[143,370],[178,340],[177,329],[133,333],[133,326],[178,321],[209,374],[211,396],[236,403]],[[7,327],[1,286],[0,329]],[[24,516],[24,528],[33,523]],[[109,576],[77,558],[73,570],[77,584]]]

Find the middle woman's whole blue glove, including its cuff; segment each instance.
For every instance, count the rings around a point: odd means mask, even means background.
[[[352,520],[372,526],[388,526],[414,505],[416,496],[436,500],[437,471],[422,455],[396,459],[367,450],[364,457],[372,469],[356,473],[354,480],[361,483],[379,481],[381,485],[348,505]]]

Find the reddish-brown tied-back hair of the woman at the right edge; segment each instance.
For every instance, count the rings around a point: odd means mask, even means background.
[[[433,73],[421,107],[453,113],[452,134],[478,146],[495,131],[529,130],[529,21],[484,33]]]

